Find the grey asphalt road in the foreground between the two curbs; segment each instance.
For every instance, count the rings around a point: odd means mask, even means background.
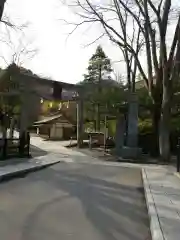
[[[0,184],[1,240],[149,240],[139,169],[60,163]]]

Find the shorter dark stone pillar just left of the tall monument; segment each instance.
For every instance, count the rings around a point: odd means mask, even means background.
[[[125,133],[125,118],[119,116],[116,122],[116,135],[115,135],[115,152],[117,155],[121,154],[122,147],[124,146],[124,133]]]

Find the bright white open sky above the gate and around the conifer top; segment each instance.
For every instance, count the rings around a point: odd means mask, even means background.
[[[7,18],[17,26],[25,24],[27,27],[22,34],[21,31],[7,30],[1,24],[0,31],[4,33],[4,39],[0,48],[0,64],[3,67],[25,45],[29,50],[36,50],[36,54],[34,57],[20,54],[22,66],[44,77],[75,83],[83,79],[88,60],[97,44],[102,44],[116,71],[122,67],[116,62],[122,59],[121,52],[108,39],[86,46],[99,35],[98,26],[90,29],[84,26],[67,40],[71,26],[62,19],[76,21],[76,18],[60,0],[7,0],[4,19]]]

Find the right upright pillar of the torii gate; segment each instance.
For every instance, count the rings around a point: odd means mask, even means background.
[[[83,105],[83,95],[79,92],[79,99],[77,101],[77,146],[79,148],[82,147],[84,134]]]

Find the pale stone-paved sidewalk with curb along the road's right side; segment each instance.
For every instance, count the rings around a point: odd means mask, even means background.
[[[180,179],[175,169],[142,170],[153,240],[180,239]]]

